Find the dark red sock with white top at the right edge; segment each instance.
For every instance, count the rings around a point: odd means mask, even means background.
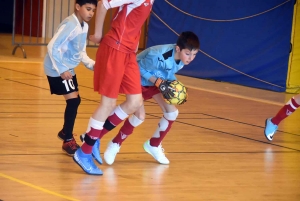
[[[283,119],[290,116],[298,107],[299,105],[296,103],[294,97],[291,98],[286,105],[278,111],[276,116],[271,119],[272,123],[278,125]]]

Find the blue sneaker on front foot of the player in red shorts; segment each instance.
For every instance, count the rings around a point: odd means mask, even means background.
[[[85,154],[81,148],[77,149],[73,156],[73,160],[85,171],[91,175],[103,175],[103,172],[95,165],[92,155]]]

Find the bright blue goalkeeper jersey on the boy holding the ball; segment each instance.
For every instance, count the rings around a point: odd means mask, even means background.
[[[153,86],[149,81],[155,76],[163,80],[177,80],[175,73],[183,66],[182,61],[175,61],[175,44],[157,45],[147,48],[137,55],[142,86]]]

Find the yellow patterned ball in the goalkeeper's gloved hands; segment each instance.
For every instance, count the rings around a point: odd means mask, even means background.
[[[178,80],[171,82],[170,87],[175,89],[174,97],[171,99],[165,99],[165,101],[168,104],[180,105],[187,98],[186,87]]]

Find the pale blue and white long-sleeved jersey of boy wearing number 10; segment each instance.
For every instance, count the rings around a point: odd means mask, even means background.
[[[64,19],[49,42],[48,52],[44,59],[45,74],[59,77],[61,73],[70,71],[75,75],[74,68],[82,63],[93,70],[95,61],[86,54],[88,24],[80,24],[75,14]]]

